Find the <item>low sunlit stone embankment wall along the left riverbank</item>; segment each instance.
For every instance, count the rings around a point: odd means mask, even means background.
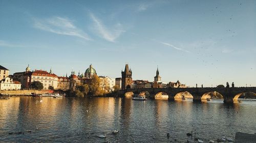
[[[0,91],[0,95],[11,95],[11,96],[23,96],[31,95],[31,93],[44,94],[44,93],[53,93],[53,90],[19,90],[19,91]]]

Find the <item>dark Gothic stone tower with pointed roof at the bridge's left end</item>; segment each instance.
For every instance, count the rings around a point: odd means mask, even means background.
[[[128,64],[125,64],[125,68],[124,71],[121,72],[122,73],[122,85],[121,85],[121,89],[125,90],[125,89],[131,89],[131,85],[132,85],[132,70],[129,69]]]

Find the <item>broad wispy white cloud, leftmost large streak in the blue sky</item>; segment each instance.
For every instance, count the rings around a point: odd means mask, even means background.
[[[34,27],[47,32],[79,37],[85,40],[92,40],[86,33],[77,28],[71,20],[62,17],[48,19],[34,18]]]

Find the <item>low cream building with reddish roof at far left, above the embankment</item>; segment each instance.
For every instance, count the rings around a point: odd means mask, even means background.
[[[0,81],[0,91],[20,90],[22,84],[18,81],[13,81],[10,77],[6,77]]]

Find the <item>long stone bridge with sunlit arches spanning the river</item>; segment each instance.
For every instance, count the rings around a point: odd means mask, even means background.
[[[224,98],[224,103],[238,102],[239,96],[246,92],[252,92],[256,96],[256,87],[250,88],[150,88],[150,89],[126,89],[119,91],[120,96],[144,94],[150,98],[167,97],[168,100],[174,100],[181,97],[181,94],[190,93],[193,96],[193,101],[204,101],[209,98],[209,94],[218,92]],[[162,94],[164,93],[164,94]],[[178,96],[178,97],[177,97]]]

